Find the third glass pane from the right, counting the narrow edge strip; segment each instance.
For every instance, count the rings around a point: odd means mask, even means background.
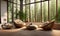
[[[47,21],[48,20],[48,1],[45,1],[43,3],[43,8],[42,8],[42,21]]]

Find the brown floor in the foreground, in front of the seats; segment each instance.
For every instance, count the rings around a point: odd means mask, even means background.
[[[29,30],[0,30],[0,36],[60,36],[60,30],[52,31],[29,31]]]

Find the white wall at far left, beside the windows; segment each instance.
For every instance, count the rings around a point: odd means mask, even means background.
[[[7,2],[1,1],[1,23],[4,23],[4,19],[7,20]]]

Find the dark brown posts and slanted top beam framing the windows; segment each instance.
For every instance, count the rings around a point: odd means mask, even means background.
[[[15,2],[12,2],[12,1],[8,1],[8,2],[10,2],[10,3],[13,3],[13,4],[16,4],[16,13],[17,13],[17,7],[18,6],[20,6],[21,7],[21,4],[17,4],[17,3],[15,3]],[[17,2],[17,1],[16,1]],[[30,2],[30,0],[29,0],[29,3],[26,3],[26,0],[25,0],[25,4],[22,4],[22,9],[20,8],[20,10],[22,10],[23,11],[23,6],[25,6],[26,7],[26,5],[29,5],[29,21],[28,22],[31,22],[31,13],[30,13],[30,6],[31,6],[31,4],[35,4],[34,5],[34,8],[36,8],[36,3],[41,3],[40,5],[40,8],[41,8],[41,10],[40,10],[40,14],[41,14],[41,20],[40,20],[40,22],[42,22],[42,2],[45,2],[45,1],[42,1],[42,0],[40,0],[40,1],[36,1],[36,0],[34,0],[34,2]],[[21,3],[21,2],[20,2]],[[12,4],[12,5],[13,5]],[[12,8],[14,8],[14,7],[12,7]],[[47,21],[50,21],[50,5],[49,5],[49,0],[48,0],[48,19],[47,19]],[[36,9],[34,9],[34,10],[36,10]],[[25,8],[25,11],[26,11],[26,8]],[[56,19],[57,19],[57,0],[56,0]],[[12,15],[13,15],[13,10],[12,10]],[[37,16],[36,15],[36,11],[35,11],[35,16]],[[16,18],[17,18],[17,14],[16,14]],[[14,19],[14,16],[12,16],[12,21],[13,21],[13,19]],[[27,19],[25,19],[25,20],[27,20]],[[35,17],[35,22],[37,22],[37,18]]]

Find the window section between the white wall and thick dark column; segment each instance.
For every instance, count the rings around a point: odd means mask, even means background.
[[[18,17],[18,13],[20,11],[20,0],[8,0],[7,2],[7,6],[8,6],[8,22],[9,21],[13,21]]]

